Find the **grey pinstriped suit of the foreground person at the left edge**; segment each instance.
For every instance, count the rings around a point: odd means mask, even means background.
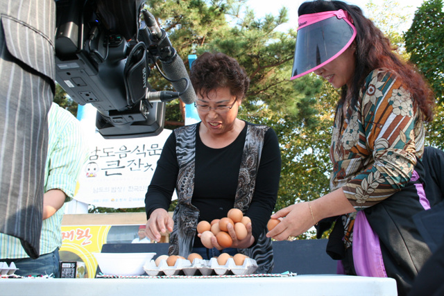
[[[39,256],[47,114],[55,93],[54,0],[0,1],[0,233]]]

